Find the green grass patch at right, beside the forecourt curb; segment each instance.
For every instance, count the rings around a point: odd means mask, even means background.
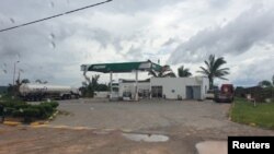
[[[274,129],[274,103],[247,102],[236,98],[230,109],[231,120],[239,123]]]

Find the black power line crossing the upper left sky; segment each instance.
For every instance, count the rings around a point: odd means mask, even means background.
[[[94,4],[87,5],[87,7],[83,7],[83,8],[79,8],[79,9],[76,9],[76,10],[67,11],[65,13],[60,13],[60,14],[56,14],[56,15],[53,15],[53,16],[44,17],[44,19],[41,19],[41,20],[36,20],[36,21],[28,22],[28,23],[24,23],[24,24],[21,24],[21,25],[16,25],[16,26],[3,28],[3,29],[0,29],[0,33],[1,32],[5,32],[5,31],[10,31],[10,29],[13,29],[13,28],[19,28],[19,27],[22,27],[22,26],[35,24],[35,23],[38,23],[38,22],[47,21],[47,20],[50,20],[50,19],[59,17],[59,16],[62,16],[62,15],[67,15],[67,14],[73,13],[73,12],[78,12],[78,11],[81,11],[81,10],[85,10],[85,9],[89,9],[89,8],[101,5],[101,4],[111,2],[111,1],[113,1],[113,0],[106,0],[106,1],[103,1],[103,2],[94,3]]]

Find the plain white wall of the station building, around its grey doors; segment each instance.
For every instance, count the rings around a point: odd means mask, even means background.
[[[168,99],[176,99],[180,95],[186,98],[186,86],[201,86],[202,99],[208,88],[208,80],[202,76],[195,78],[151,78],[151,86],[162,86],[162,94]],[[174,91],[174,92],[172,92]]]

